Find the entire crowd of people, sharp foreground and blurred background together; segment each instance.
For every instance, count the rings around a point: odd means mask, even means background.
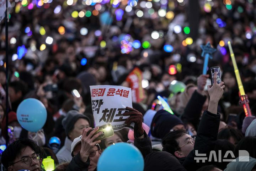
[[[43,159],[51,156],[56,171],[94,171],[107,147],[127,142],[142,154],[144,171],[256,170],[255,1],[10,4],[8,87],[5,44],[0,45],[0,145],[9,137],[9,146],[0,147],[2,169],[44,170]],[[2,38],[4,26],[1,22]],[[228,41],[252,116],[246,117],[239,104]],[[212,86],[209,71],[202,75],[200,45],[207,42],[217,49],[208,67],[219,66],[222,73],[222,82],[217,84],[215,75]],[[124,113],[130,117],[128,125],[135,123],[133,131],[122,129],[94,141],[101,132],[94,135],[98,127],[91,104],[93,85],[134,90],[132,108]],[[158,96],[174,115],[163,109]],[[18,105],[27,98],[40,100],[47,109],[46,123],[37,133],[17,120]],[[242,150],[249,153],[249,162],[240,161]],[[213,151],[221,162],[215,161]],[[206,156],[205,162],[197,162],[197,157]]]

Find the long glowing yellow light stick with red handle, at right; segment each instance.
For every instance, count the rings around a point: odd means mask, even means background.
[[[240,74],[239,74],[238,67],[236,65],[235,55],[234,55],[234,52],[233,52],[230,41],[228,41],[228,46],[229,46],[230,56],[231,56],[231,60],[232,60],[234,71],[235,71],[236,81],[238,83],[238,88],[239,88],[239,96],[240,96],[239,103],[243,105],[243,108],[244,108],[244,111],[245,111],[245,116],[246,117],[251,116],[251,109],[250,109],[250,106],[249,106],[249,99],[248,99],[247,95],[245,94],[244,86],[242,85],[241,77],[240,77]]]

